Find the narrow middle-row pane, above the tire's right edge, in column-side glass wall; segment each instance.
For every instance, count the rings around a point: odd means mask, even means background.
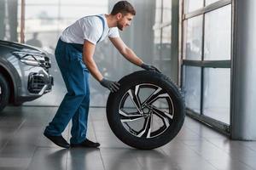
[[[184,23],[183,38],[183,58],[201,60],[202,15]]]

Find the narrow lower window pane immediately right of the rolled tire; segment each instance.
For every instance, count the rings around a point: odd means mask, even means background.
[[[185,104],[190,110],[200,113],[201,68],[183,66],[183,91]]]

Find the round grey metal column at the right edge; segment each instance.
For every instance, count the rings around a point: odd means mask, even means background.
[[[233,4],[231,139],[256,140],[256,1]]]

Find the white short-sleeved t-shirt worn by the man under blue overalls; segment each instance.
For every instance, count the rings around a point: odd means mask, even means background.
[[[103,31],[102,20],[98,16],[85,16],[77,20],[73,25],[68,26],[66,30],[61,33],[61,40],[68,43],[84,44],[84,40],[96,44],[96,42],[102,36],[100,42],[106,37],[119,37],[119,31],[117,27],[108,27],[105,14],[100,14],[104,19],[105,27]]]

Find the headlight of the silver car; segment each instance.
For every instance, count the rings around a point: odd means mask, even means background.
[[[44,64],[44,54],[21,51],[15,51],[12,54],[14,54],[22,63],[25,63],[26,65],[40,66]]]

